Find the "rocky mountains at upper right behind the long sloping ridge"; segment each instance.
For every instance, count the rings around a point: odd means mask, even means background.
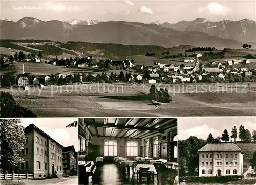
[[[180,31],[204,32],[209,35],[218,36],[224,39],[233,39],[243,43],[254,42],[254,46],[256,42],[256,22],[249,19],[212,22],[205,18],[197,18],[193,21],[180,21],[176,24],[165,22],[160,25]]]

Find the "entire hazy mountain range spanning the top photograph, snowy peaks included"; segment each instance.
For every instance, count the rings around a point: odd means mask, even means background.
[[[241,48],[244,42],[256,42],[255,22],[211,22],[204,18],[173,23],[151,23],[97,20],[41,21],[24,17],[17,22],[1,20],[1,39],[49,39],[124,45],[159,45],[172,47]],[[254,37],[253,37],[254,36]]]

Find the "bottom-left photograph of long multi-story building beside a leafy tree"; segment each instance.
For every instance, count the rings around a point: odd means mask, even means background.
[[[0,184],[78,184],[75,121],[0,119]]]

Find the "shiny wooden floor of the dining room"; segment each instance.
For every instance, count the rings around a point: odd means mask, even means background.
[[[159,183],[157,182],[157,177],[154,177],[154,183],[151,180],[150,184],[159,184],[167,185],[169,184],[168,178],[170,177],[174,181],[177,171],[175,170],[166,170],[165,166],[162,166],[157,169]],[[137,184],[137,175],[135,174],[133,181],[132,179],[132,170],[130,174],[122,173],[121,169],[115,164],[104,164],[102,166],[97,166],[95,171],[93,184],[97,185],[126,185],[126,184]],[[138,181],[138,184],[147,184],[147,178],[143,177],[142,182]]]

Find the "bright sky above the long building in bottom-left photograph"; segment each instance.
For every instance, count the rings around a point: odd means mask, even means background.
[[[22,125],[34,124],[62,146],[74,145],[78,151],[78,127],[66,128],[77,118],[21,118]]]

